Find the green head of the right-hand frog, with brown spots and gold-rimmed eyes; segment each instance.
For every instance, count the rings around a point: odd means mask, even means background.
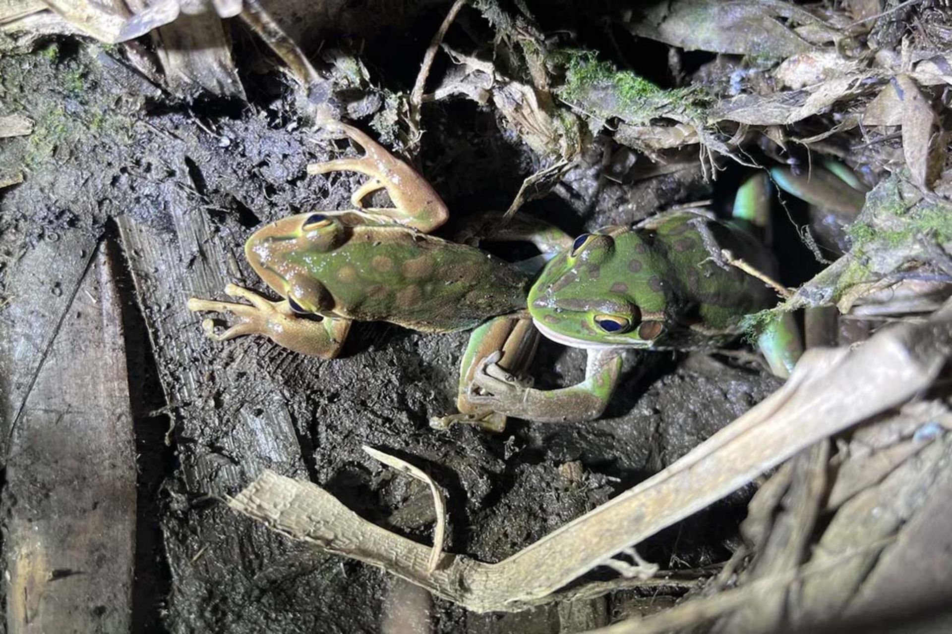
[[[645,237],[606,227],[575,239],[529,290],[536,327],[576,348],[651,348],[664,338],[663,260]]]

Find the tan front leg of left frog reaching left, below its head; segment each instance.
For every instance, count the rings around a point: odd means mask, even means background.
[[[347,332],[350,330],[348,319],[322,317],[317,320],[303,317],[291,310],[287,299],[271,301],[235,284],[228,284],[225,293],[232,298],[246,299],[250,303],[188,299],[188,310],[193,313],[213,311],[230,313],[238,318],[238,323],[222,333],[215,331],[213,319],[203,320],[202,330],[214,341],[226,341],[236,336],[264,335],[294,352],[323,358],[337,356],[344,347]]]

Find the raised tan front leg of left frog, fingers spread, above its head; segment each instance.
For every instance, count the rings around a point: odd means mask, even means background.
[[[336,171],[365,174],[372,180],[354,192],[351,197],[354,206],[425,233],[446,222],[449,217],[446,203],[416,170],[390,154],[386,147],[358,128],[346,124],[334,124],[333,128],[344,132],[351,141],[360,145],[364,149],[364,156],[311,163],[307,165],[308,174]],[[387,190],[393,207],[363,207],[363,198],[377,189]]]

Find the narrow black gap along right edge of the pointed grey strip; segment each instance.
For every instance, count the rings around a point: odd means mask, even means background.
[[[106,240],[120,245],[114,221],[107,223]],[[122,298],[123,331],[129,375],[129,406],[136,451],[135,562],[132,586],[132,631],[167,632],[162,621],[171,591],[171,571],[160,520],[165,507],[166,478],[175,470],[175,447],[167,445],[169,416],[152,351],[146,319],[136,300],[129,261],[118,246],[110,249],[116,286]]]

